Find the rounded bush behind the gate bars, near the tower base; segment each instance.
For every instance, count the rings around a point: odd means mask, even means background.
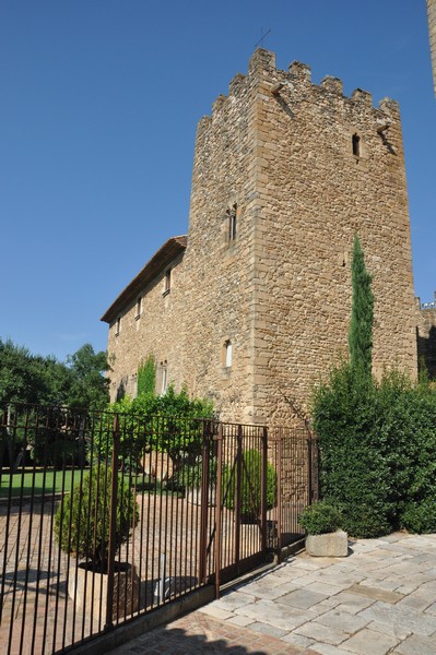
[[[257,450],[248,450],[243,455],[240,476],[240,511],[246,516],[257,519],[261,502],[261,454]],[[223,471],[224,504],[228,510],[235,509],[236,466],[225,466]],[[278,476],[275,468],[267,463],[267,509],[276,504]]]

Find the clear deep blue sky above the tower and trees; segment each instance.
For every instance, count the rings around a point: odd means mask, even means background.
[[[61,360],[106,348],[101,315],[187,231],[197,121],[261,28],[279,68],[399,100],[415,290],[433,299],[425,0],[0,0],[1,338]]]

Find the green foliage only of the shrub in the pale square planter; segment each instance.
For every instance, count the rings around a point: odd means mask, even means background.
[[[91,560],[95,569],[107,572],[111,469],[96,466],[82,483],[67,493],[55,515],[55,534],[60,548],[78,558]],[[118,476],[116,547],[127,541],[138,503],[132,490]]]

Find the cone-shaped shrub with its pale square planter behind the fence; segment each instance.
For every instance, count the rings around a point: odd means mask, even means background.
[[[68,593],[84,611],[104,621],[109,563],[111,468],[96,465],[66,493],[55,515],[59,547],[76,558],[70,565]],[[116,549],[127,541],[138,521],[133,491],[118,474]],[[81,561],[79,561],[81,560]],[[115,562],[113,620],[132,614],[139,606],[139,577],[135,568]]]

